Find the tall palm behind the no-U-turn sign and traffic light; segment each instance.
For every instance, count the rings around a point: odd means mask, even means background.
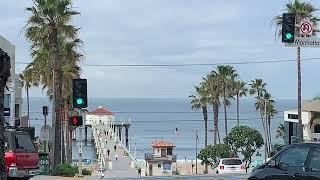
[[[295,13],[296,24],[300,24],[303,19],[310,19],[315,27],[318,26],[319,19],[314,16],[318,9],[309,2],[301,2],[300,0],[295,0],[294,2],[288,2],[286,4],[285,11],[288,13]],[[273,18],[273,24],[276,27],[276,36],[281,36],[282,31],[282,16],[278,15]],[[299,37],[299,29],[296,29],[295,36]],[[303,140],[302,134],[302,120],[301,120],[301,66],[300,66],[300,51],[301,48],[297,47],[297,64],[298,64],[298,119],[299,119],[299,138]]]

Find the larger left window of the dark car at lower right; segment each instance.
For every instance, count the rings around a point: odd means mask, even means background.
[[[309,147],[295,147],[288,149],[277,157],[276,163],[281,162],[288,164],[289,167],[303,167],[306,161]]]

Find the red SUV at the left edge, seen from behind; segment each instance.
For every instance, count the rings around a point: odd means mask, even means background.
[[[39,169],[39,153],[30,134],[25,131],[8,128],[5,131],[5,165],[8,179],[27,180]]]

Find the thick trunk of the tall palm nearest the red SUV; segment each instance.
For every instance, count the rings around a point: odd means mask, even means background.
[[[61,105],[62,105],[62,73],[60,69],[59,49],[58,49],[58,32],[57,28],[52,27],[52,32],[49,34],[49,45],[53,53],[53,156],[52,162],[55,167],[61,164]]]

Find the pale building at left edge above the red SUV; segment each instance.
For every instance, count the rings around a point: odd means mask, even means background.
[[[20,76],[15,74],[15,46],[0,35],[0,48],[8,54],[11,62],[11,76],[4,92],[4,118],[7,123],[14,126],[22,114],[22,81]]]

